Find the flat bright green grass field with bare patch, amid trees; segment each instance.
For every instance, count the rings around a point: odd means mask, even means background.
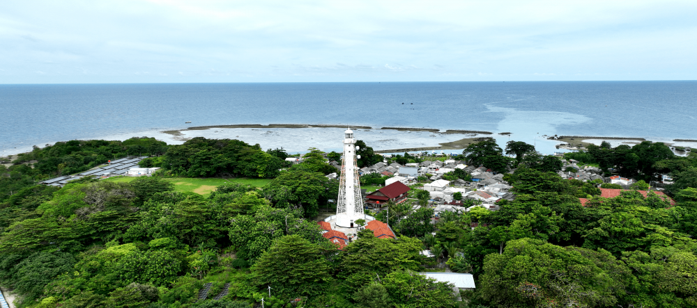
[[[133,181],[134,179],[137,179],[137,177],[113,177],[107,179],[107,181],[128,183],[130,181]],[[176,191],[190,191],[192,193],[203,195],[204,197],[208,197],[208,195],[210,195],[211,192],[215,191],[215,188],[217,186],[220,186],[225,183],[241,183],[261,187],[271,181],[270,179],[219,179],[213,177],[206,179],[190,177],[174,177],[166,179],[174,183],[174,190]]]

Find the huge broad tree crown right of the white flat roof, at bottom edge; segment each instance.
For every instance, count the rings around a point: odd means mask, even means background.
[[[609,307],[627,294],[633,279],[604,250],[522,238],[484,259],[477,289],[490,307]]]

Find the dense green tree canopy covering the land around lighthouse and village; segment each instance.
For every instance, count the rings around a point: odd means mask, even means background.
[[[374,163],[365,143],[362,151],[362,164]],[[141,163],[162,170],[130,182],[35,184],[126,155],[151,156]],[[34,149],[0,170],[0,285],[20,295],[20,307],[41,308],[241,308],[261,307],[262,298],[264,307],[697,307],[695,154],[645,142],[566,156],[646,183],[671,175],[671,204],[632,189],[602,197],[602,181],[562,179],[557,157],[484,140],[458,159],[506,172],[514,200],[499,201],[498,211],[441,212],[434,224],[428,193],[413,189],[409,204],[388,204],[389,218],[374,213],[396,239],[365,229],[342,250],[313,221],[339,187],[324,176],[336,169],[323,155],[335,157],[309,149],[289,165],[282,149],[205,138]],[[204,197],[175,191],[168,177],[271,180],[224,184]],[[419,275],[443,267],[472,273],[477,288],[457,302],[452,286]],[[208,283],[208,298],[197,300]]]

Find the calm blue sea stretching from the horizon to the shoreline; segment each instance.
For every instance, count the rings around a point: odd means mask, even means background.
[[[0,156],[58,141],[132,136],[170,144],[195,136],[237,138],[289,152],[342,147],[342,128],[163,133],[231,124],[367,126],[373,129],[358,129],[356,138],[374,149],[475,136],[381,127],[491,131],[502,147],[522,140],[544,154],[559,151],[546,138],[554,135],[697,147],[673,141],[697,139],[697,81],[6,84],[0,85],[0,112]]]

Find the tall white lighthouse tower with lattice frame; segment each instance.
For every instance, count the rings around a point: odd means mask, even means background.
[[[355,138],[353,131],[344,131],[344,157],[342,159],[342,175],[339,179],[339,199],[337,202],[337,226],[358,227],[355,221],[365,219],[363,213],[363,198],[360,195],[358,181],[358,166],[356,165]],[[360,156],[358,156],[360,158]]]

